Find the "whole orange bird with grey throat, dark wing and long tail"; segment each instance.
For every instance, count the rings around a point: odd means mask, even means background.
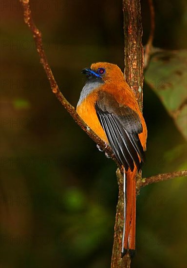
[[[135,252],[137,170],[145,162],[147,127],[131,88],[120,68],[93,63],[82,70],[87,82],[76,111],[84,122],[112,148],[124,169],[124,231],[122,256]]]

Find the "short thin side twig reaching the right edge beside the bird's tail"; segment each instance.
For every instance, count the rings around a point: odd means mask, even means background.
[[[140,187],[142,188],[154,182],[159,182],[159,181],[164,181],[164,180],[169,180],[169,179],[184,177],[184,176],[187,176],[187,170],[169,172],[165,174],[158,174],[155,176],[142,179]]]

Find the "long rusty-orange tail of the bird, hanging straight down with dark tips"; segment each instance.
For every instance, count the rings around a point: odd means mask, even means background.
[[[136,176],[137,169],[124,173],[124,230],[122,256],[129,249],[130,255],[135,253],[136,232]]]

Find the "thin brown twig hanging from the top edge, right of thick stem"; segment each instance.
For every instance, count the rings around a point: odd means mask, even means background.
[[[146,69],[150,60],[150,53],[152,50],[152,41],[154,38],[154,29],[155,29],[155,13],[154,13],[153,2],[152,0],[148,0],[148,3],[150,7],[150,36],[144,54],[144,69]]]

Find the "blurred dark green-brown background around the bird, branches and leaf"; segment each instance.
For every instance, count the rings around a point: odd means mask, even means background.
[[[143,43],[150,32],[142,0]],[[186,0],[155,0],[154,46],[184,49]],[[122,1],[31,0],[33,18],[64,96],[76,106],[80,71],[97,61],[124,68]],[[116,166],[51,92],[18,0],[1,1],[1,268],[110,267]],[[185,139],[145,84],[143,176],[186,167]],[[132,268],[185,268],[187,184],[150,185],[137,198]]]

